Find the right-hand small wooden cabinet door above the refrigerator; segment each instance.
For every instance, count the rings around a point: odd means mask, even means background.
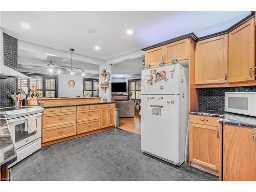
[[[164,46],[164,63],[170,63],[173,59],[188,59],[189,39],[182,39]]]

